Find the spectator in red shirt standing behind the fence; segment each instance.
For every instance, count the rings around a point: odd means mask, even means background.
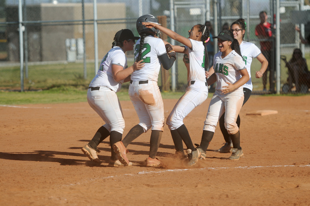
[[[266,12],[260,12],[260,20],[261,23],[258,24],[255,28],[255,35],[261,40],[261,51],[262,54],[268,61],[268,67],[266,72],[263,73],[263,91],[267,91],[266,84],[267,84],[267,71],[269,71],[269,85],[270,85],[270,92],[274,93],[274,76],[275,71],[272,62],[272,32],[271,27],[272,25],[267,21],[267,14]],[[270,39],[270,40],[269,40]]]

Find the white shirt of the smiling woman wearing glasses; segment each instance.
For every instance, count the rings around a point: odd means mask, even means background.
[[[255,44],[250,43],[250,42],[245,42],[245,41],[242,41],[240,45],[240,50],[241,50],[243,61],[246,63],[248,75],[250,76],[250,79],[248,80],[247,83],[243,85],[243,87],[248,88],[249,90],[252,91],[253,85],[252,85],[252,79],[251,79],[251,63],[253,61],[253,58],[256,58],[262,52],[261,52],[261,49],[256,47]]]

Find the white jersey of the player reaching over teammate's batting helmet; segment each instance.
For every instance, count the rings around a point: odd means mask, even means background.
[[[189,39],[192,45],[192,49],[186,48],[186,55],[188,56],[189,68],[187,67],[187,81],[201,80],[206,81],[204,71],[204,46],[202,41],[196,41]],[[188,63],[187,61],[185,63]]]

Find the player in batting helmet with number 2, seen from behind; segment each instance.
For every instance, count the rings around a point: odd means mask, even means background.
[[[176,57],[167,55],[165,44],[160,38],[156,38],[158,30],[147,28],[142,22],[154,22],[157,20],[152,15],[140,16],[137,20],[137,30],[141,38],[135,46],[135,59],[143,60],[144,68],[134,71],[129,85],[129,96],[139,116],[140,123],[133,127],[124,137],[123,141],[113,145],[119,160],[124,165],[130,165],[126,157],[126,147],[143,132],[152,130],[150,139],[150,154],[146,160],[146,166],[158,166],[160,161],[156,158],[161,135],[164,126],[164,104],[157,85],[160,64],[165,69],[170,69]]]

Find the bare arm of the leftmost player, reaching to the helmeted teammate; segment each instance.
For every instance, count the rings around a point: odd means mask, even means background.
[[[135,70],[140,70],[144,67],[143,60],[140,60],[139,62],[135,62],[133,65],[129,66],[128,68],[124,69],[121,65],[112,65],[112,74],[113,79],[115,81],[121,81],[123,79],[126,79],[129,75],[131,75]]]

